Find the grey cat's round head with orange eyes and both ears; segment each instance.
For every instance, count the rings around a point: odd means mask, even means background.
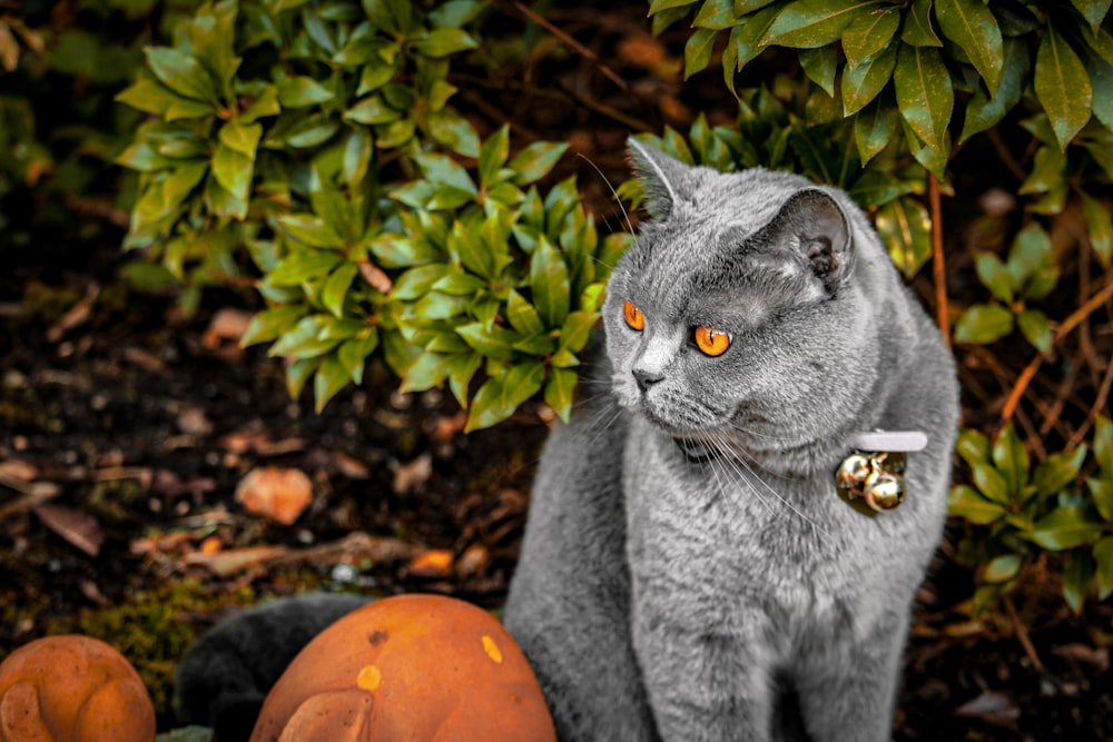
[[[776,452],[853,427],[877,375],[868,222],[839,191],[634,140],[647,208],[603,309],[620,404],[678,438]]]

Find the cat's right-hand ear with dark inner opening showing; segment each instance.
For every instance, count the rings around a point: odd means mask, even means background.
[[[850,221],[838,201],[818,188],[799,190],[762,230],[767,244],[792,254],[829,294],[849,275],[854,259]]]

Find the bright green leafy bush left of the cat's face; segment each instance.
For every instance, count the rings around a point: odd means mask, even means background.
[[[626,236],[572,181],[534,185],[565,145],[511,156],[508,127],[481,141],[451,107],[483,7],[207,3],[119,96],[155,117],[120,157],[142,174],[128,246],[195,290],[249,275],[247,246],[272,307],[244,342],[274,342],[318,408],[381,347],[404,390],[447,382],[469,429],[541,390],[570,409]]]

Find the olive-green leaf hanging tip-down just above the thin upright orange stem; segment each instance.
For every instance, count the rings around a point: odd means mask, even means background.
[[[946,132],[955,106],[951,73],[938,49],[900,47],[893,70],[897,106],[916,136],[937,151],[946,151]]]

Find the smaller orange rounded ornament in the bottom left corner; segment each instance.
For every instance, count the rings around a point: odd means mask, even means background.
[[[90,636],[47,636],[0,664],[0,742],[151,742],[139,673]]]

